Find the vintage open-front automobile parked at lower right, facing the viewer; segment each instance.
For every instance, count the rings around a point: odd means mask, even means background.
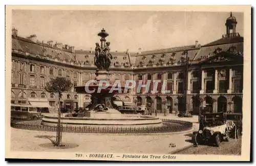
[[[199,131],[193,132],[194,146],[214,143],[219,147],[222,140],[229,141],[233,129],[236,129],[236,124],[227,120],[227,113],[204,112],[200,114]]]

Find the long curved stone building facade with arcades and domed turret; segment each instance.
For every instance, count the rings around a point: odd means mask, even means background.
[[[209,111],[242,112],[243,97],[243,37],[236,32],[237,20],[230,13],[226,34],[219,40],[200,45],[181,46],[138,53],[112,52],[111,79],[167,80],[169,93],[147,93],[133,89],[117,98],[126,104],[145,105],[153,101],[153,109],[168,113],[186,111],[197,114],[200,107]],[[75,50],[60,42],[40,42],[36,35],[27,38],[12,30],[12,104],[41,104],[57,111],[58,94],[44,90],[54,77],[66,77],[73,87],[84,86],[95,78],[94,51]],[[161,91],[161,86],[158,90]],[[149,87],[153,90],[153,86]],[[61,97],[64,107],[84,107],[90,97],[77,94],[74,88]]]

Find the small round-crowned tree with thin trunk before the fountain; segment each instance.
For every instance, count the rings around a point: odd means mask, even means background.
[[[46,91],[58,93],[58,125],[57,125],[57,134],[56,134],[56,146],[60,146],[61,142],[61,126],[60,126],[60,97],[61,93],[65,91],[70,91],[72,87],[72,83],[70,80],[63,78],[63,77],[56,77],[55,79],[52,79],[51,81],[46,83]]]

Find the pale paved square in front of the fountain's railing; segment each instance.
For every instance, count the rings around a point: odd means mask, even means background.
[[[179,118],[174,115],[161,116],[164,118],[175,118],[183,121],[196,121],[193,118]],[[187,120],[188,119],[188,120]],[[195,130],[198,124],[193,124]],[[193,129],[194,130],[194,129]],[[81,151],[81,152],[115,152],[115,153],[161,153],[168,154],[184,147],[192,145],[189,141],[191,133],[154,134],[154,135],[96,135],[81,133],[63,133],[63,143],[75,143],[79,146],[74,149],[55,150],[42,148],[40,144],[51,143],[48,138],[40,136],[51,136],[55,139],[55,132],[32,131],[11,129],[11,150],[15,151]],[[39,136],[39,137],[38,137]],[[174,147],[170,144],[175,145]]]

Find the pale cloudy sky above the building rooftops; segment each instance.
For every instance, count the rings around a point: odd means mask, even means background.
[[[232,13],[237,19],[237,32],[243,36],[243,13]],[[102,28],[112,51],[157,50],[176,46],[207,44],[226,33],[228,12],[178,11],[61,11],[13,10],[12,27],[18,36],[36,34],[37,39],[53,40],[90,50],[99,42]]]

